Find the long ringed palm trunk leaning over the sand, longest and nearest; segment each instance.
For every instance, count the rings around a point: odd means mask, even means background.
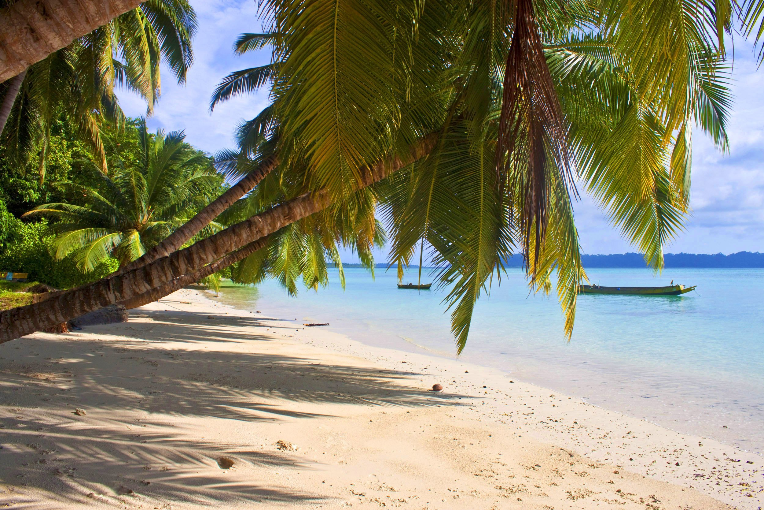
[[[387,158],[361,170],[357,189],[370,186],[425,157],[432,151],[437,138],[435,133],[427,135],[413,144],[407,154]],[[87,287],[51,297],[42,303],[5,310],[0,313],[0,343],[151,291],[183,274],[197,271],[211,261],[268,236],[298,219],[317,213],[329,203],[329,193],[326,190],[306,193],[230,226],[186,249],[128,271],[119,278],[100,280]]]

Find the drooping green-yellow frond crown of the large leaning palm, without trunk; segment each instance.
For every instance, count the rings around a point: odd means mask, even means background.
[[[603,206],[611,208],[614,223],[646,253],[649,263],[662,265],[662,247],[681,227],[686,211],[691,122],[697,119],[720,147],[726,143],[724,119],[730,100],[723,56],[713,37],[716,26],[698,11],[656,2],[645,9],[662,11],[668,21],[663,26],[654,22],[649,31],[633,26],[636,41],[629,41],[617,37],[623,34],[614,31],[613,20],[642,24],[648,10],[620,12],[620,4],[612,2],[604,5],[612,14],[598,23],[592,5],[585,3],[564,9],[547,3],[543,17],[535,14],[538,6],[533,2],[432,3],[429,8],[438,14],[419,21],[450,31],[430,37],[437,41],[432,47],[420,39],[415,47],[420,53],[411,54],[408,62],[402,57],[400,65],[416,66],[420,56],[430,64],[439,60],[452,66],[442,67],[441,76],[454,86],[444,83],[447,92],[438,98],[440,105],[409,102],[419,122],[425,115],[440,115],[428,119],[429,126],[420,124],[422,131],[438,126],[447,131],[428,161],[379,189],[393,225],[392,261],[399,267],[409,263],[417,245],[421,260],[424,240],[434,247],[435,261],[442,265],[441,281],[457,282],[447,302],[454,307],[454,333],[461,348],[472,307],[488,278],[514,251],[523,252],[533,286],[548,290],[552,268],[560,273],[558,291],[569,334],[575,289],[584,278],[572,223],[573,169]],[[381,14],[381,4],[367,7],[369,18],[354,17],[358,11],[352,8],[345,13],[335,10],[333,21],[328,17],[332,6],[322,2],[272,2],[271,7],[270,31],[242,35],[235,50],[243,54],[249,44],[270,41],[275,45],[274,63],[231,73],[216,90],[212,106],[273,80],[271,108],[283,119],[280,137],[298,139],[308,148],[308,178],[336,200],[357,184],[355,167],[391,150],[393,136],[387,135],[387,128],[397,122],[416,125],[396,119],[394,115],[406,112],[390,109],[388,98],[396,98],[393,102],[400,107],[406,104],[403,93],[412,95],[416,85],[423,85],[420,98],[427,93],[437,98],[439,84],[408,82],[406,89],[397,90],[393,80],[376,79],[394,76],[390,48],[396,42],[406,47],[406,32],[393,15]],[[378,16],[387,23],[387,33]],[[299,30],[310,17],[316,20],[312,30]],[[723,27],[728,22],[720,19]],[[357,31],[343,31],[339,41],[332,32],[344,23]],[[420,24],[419,30],[422,26],[426,25]],[[367,33],[382,38],[370,50],[353,50],[363,44],[353,37]],[[675,60],[664,58],[665,65],[656,67],[651,62],[660,59],[652,57],[660,54],[666,40],[677,47]],[[634,57],[644,57],[640,47],[648,48],[648,54],[652,51],[652,57],[633,62]],[[449,61],[445,52],[458,57]],[[358,86],[358,76],[372,79]],[[650,90],[665,80],[679,80],[671,96]],[[586,96],[593,85],[600,95]],[[646,91],[642,104],[634,100],[639,87]],[[581,105],[598,111],[580,112]],[[648,112],[638,112],[640,107]],[[673,124],[662,125],[665,119]],[[590,127],[582,137],[580,132]],[[652,141],[645,138],[647,132]],[[671,132],[678,135],[666,135]],[[672,165],[666,164],[669,158]],[[619,176],[626,178],[613,181]],[[549,242],[542,242],[550,224]]]

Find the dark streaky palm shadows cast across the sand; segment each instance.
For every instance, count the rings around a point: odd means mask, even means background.
[[[225,344],[272,342],[252,330],[220,330],[222,325],[253,326],[257,319],[147,310],[133,317],[151,322],[88,328],[86,333],[104,335],[97,340],[48,335],[0,346],[0,482],[9,488],[0,493],[0,505],[59,508],[95,503],[94,498],[103,495],[100,501],[115,504],[122,499],[148,505],[311,506],[322,496],[237,480],[225,469],[217,468],[219,476],[197,472],[216,467],[219,456],[228,454],[240,464],[274,469],[315,469],[315,464],[303,466],[298,455],[263,448],[259,442],[242,447],[204,440],[173,426],[167,416],[273,422],[328,416],[331,413],[322,412],[332,408],[328,404],[459,404],[454,395],[413,388],[411,379],[418,372],[316,364],[305,356],[226,349]],[[157,338],[175,347],[166,349]],[[220,349],[202,348],[202,341],[220,343]],[[277,404],[266,403],[273,398]],[[95,405],[79,417],[73,414],[79,402]],[[296,402],[303,408],[308,403],[312,411],[293,409],[290,403]],[[139,417],[125,421],[114,417],[116,411]],[[38,497],[28,496],[26,488],[35,489]]]

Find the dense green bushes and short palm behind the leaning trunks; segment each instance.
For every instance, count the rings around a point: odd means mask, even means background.
[[[34,174],[5,174],[4,271],[26,272],[57,288],[96,281],[138,258],[225,190],[212,158],[186,143],[183,133],[150,133],[143,119],[105,133],[108,174],[86,158],[87,151],[66,148],[63,137],[50,153],[59,180],[40,186]],[[201,235],[218,228],[213,223]]]

